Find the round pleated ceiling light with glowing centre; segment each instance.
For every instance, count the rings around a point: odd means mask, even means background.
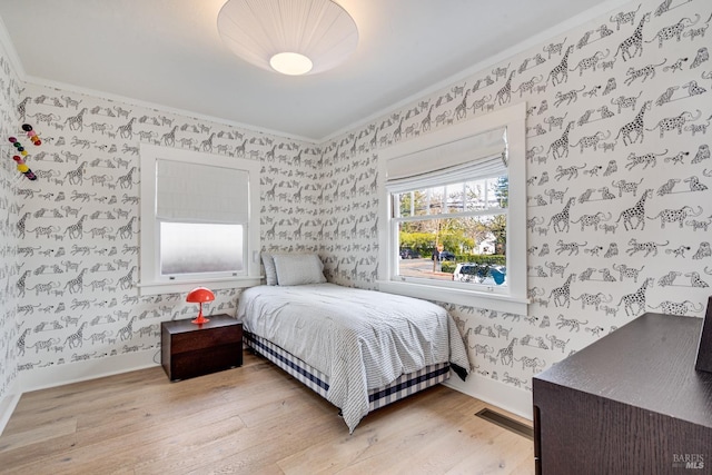
[[[335,68],[358,43],[354,19],[329,0],[228,0],[218,32],[244,60],[293,76]]]

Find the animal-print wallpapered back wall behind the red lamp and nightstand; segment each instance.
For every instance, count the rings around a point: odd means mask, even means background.
[[[16,190],[13,353],[26,389],[156,364],[160,321],[197,311],[185,295],[138,293],[142,142],[260,160],[264,246],[316,249],[317,157],[308,145],[32,83],[20,96],[19,122],[43,140],[28,159],[40,179]],[[234,315],[237,296],[217,291],[206,313]]]

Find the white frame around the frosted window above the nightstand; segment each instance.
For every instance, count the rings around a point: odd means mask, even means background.
[[[206,286],[212,290],[225,288],[241,288],[259,285],[259,174],[260,164],[256,160],[231,158],[194,150],[159,147],[148,144],[140,146],[140,267],[139,294],[159,295],[189,291],[197,286]],[[211,167],[231,168],[248,174],[248,209],[249,218],[244,230],[246,249],[244,250],[245,273],[230,275],[226,273],[206,273],[180,278],[169,278],[160,274],[160,234],[159,219],[156,217],[156,164],[157,160],[174,160],[205,165]]]

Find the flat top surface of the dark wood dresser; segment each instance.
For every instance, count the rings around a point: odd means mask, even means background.
[[[702,319],[645,314],[535,376],[712,427],[712,373],[694,369]]]

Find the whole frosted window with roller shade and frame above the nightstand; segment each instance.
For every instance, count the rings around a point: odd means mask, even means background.
[[[141,145],[141,294],[259,284],[259,164]]]

